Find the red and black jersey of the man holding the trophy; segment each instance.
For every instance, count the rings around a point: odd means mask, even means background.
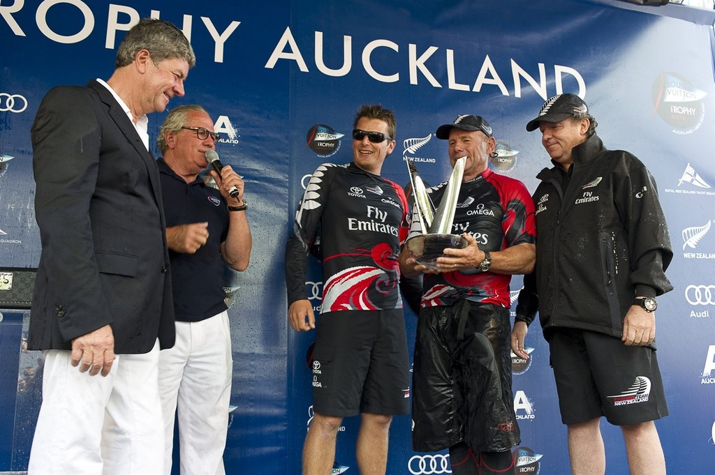
[[[435,206],[447,182],[429,188]],[[421,234],[418,213],[413,213],[410,237]],[[534,204],[521,181],[486,169],[460,186],[452,234],[471,234],[483,251],[501,251],[517,244],[536,242]],[[451,305],[460,299],[511,306],[511,276],[461,269],[442,274],[425,274],[421,306]]]

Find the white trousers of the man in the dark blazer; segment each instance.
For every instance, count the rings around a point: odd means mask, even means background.
[[[80,373],[69,351],[44,354],[28,475],[162,474],[158,342],[147,354],[117,355],[107,376]]]

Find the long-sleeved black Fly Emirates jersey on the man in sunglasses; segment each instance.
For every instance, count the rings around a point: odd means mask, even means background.
[[[321,314],[401,309],[400,244],[408,234],[400,186],[354,163],[322,164],[310,178],[285,246],[288,304],[307,298],[307,256],[320,238]]]

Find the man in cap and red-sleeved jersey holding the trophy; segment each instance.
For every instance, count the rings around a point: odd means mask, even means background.
[[[455,475],[513,474],[519,428],[511,391],[509,281],[535,261],[533,201],[516,179],[489,169],[492,129],[480,116],[458,116],[437,129],[450,163],[466,157],[453,234],[468,246],[445,249],[437,268],[404,249],[405,276],[425,274],[415,341],[413,449],[449,449]],[[435,206],[447,182],[428,189]],[[413,214],[410,236],[421,234]]]

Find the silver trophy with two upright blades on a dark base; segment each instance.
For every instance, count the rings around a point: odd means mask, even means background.
[[[422,234],[408,239],[407,249],[418,264],[422,264],[428,269],[436,269],[437,258],[445,255],[444,249],[448,247],[463,249],[467,246],[466,239],[450,233],[467,157],[463,156],[457,159],[454,164],[447,189],[437,209],[427,194],[427,189],[418,174],[413,159],[406,157],[406,161],[410,172],[412,192],[415,196],[415,210],[422,224]]]

